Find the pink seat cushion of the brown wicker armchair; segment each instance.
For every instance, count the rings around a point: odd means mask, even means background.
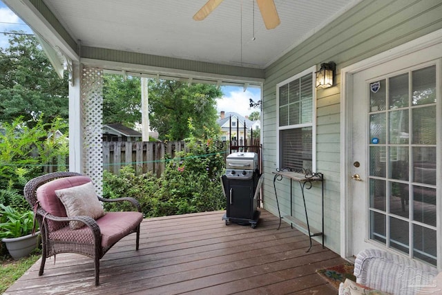
[[[102,247],[110,247],[115,242],[129,234],[143,220],[143,214],[136,211],[107,212],[97,219],[97,224],[102,232]],[[93,243],[93,236],[88,227],[72,230],[64,227],[49,233],[51,240],[70,240],[73,242]]]

